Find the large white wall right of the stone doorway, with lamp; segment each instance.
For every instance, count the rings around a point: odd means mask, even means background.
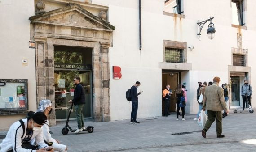
[[[123,77],[120,80],[110,79],[111,120],[130,118],[131,104],[125,100],[124,94],[137,80],[141,81],[139,90],[144,91],[139,96],[138,117],[160,115],[161,70],[158,69],[158,62],[163,62],[163,40],[187,42],[187,46],[194,45],[194,50],[187,49],[187,63],[192,63],[192,70],[181,72],[181,83],[186,82],[188,89],[190,102],[188,107],[191,114],[198,111],[197,82],[209,82],[215,76],[221,78],[221,84],[229,82],[228,65],[232,63],[231,47],[237,47],[239,31],[243,34],[243,48],[247,48],[249,52],[249,66],[255,62],[252,59],[255,56],[253,38],[256,34],[255,23],[252,23],[256,14],[252,9],[256,6],[253,0],[247,0],[247,13],[250,14],[246,18],[248,30],[231,27],[232,8],[229,0],[216,0],[214,3],[211,0],[185,0],[183,7],[185,19],[163,15],[164,0],[141,0],[141,51],[138,49],[138,0],[92,0],[92,2],[108,4],[110,24],[116,27],[113,32],[113,47],[110,48],[110,69],[112,66],[120,66]],[[212,22],[216,28],[215,38],[210,40],[207,37],[206,30],[210,23],[207,22],[199,41],[196,23],[211,16],[214,17]],[[256,72],[253,72],[256,71],[255,68],[252,67],[251,77],[256,76]],[[252,87],[254,85],[256,81],[252,79]]]

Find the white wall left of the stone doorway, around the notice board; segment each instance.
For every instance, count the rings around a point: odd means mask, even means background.
[[[29,110],[36,110],[35,49],[29,48],[33,0],[0,0],[0,79],[28,79]],[[28,66],[22,66],[28,59]],[[24,118],[24,115],[0,116],[0,130]]]

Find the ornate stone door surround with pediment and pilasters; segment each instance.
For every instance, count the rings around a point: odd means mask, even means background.
[[[93,118],[110,121],[109,47],[115,27],[79,5],[35,15],[31,35],[35,39],[36,95],[54,101],[54,46],[92,48]],[[55,110],[50,122],[55,124]]]

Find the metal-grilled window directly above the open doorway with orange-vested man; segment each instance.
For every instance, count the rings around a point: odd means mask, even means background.
[[[165,62],[183,63],[183,50],[174,48],[165,48]]]

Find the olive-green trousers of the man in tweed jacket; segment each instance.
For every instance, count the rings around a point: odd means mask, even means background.
[[[222,134],[222,114],[221,111],[210,111],[207,110],[208,113],[208,120],[205,123],[204,129],[208,131],[214,122],[214,118],[216,121],[216,132],[217,136],[220,136]]]

